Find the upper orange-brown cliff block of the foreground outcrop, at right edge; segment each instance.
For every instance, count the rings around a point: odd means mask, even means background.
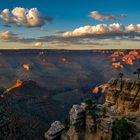
[[[140,81],[111,79],[108,82],[106,102],[120,113],[139,111]]]

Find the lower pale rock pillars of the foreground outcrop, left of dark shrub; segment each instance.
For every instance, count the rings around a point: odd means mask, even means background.
[[[70,110],[69,129],[64,129],[60,122],[52,123],[50,129],[45,133],[46,140],[111,140],[111,117],[102,118],[103,113],[100,109],[103,106],[97,106],[97,117],[91,113],[92,110],[86,109],[87,105],[73,105]],[[91,111],[91,112],[90,112]]]

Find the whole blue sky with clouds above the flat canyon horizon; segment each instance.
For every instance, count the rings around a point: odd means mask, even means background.
[[[0,0],[0,49],[140,49],[139,0]]]

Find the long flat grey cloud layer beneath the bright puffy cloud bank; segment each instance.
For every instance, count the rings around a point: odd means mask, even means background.
[[[140,33],[129,32],[129,33],[109,33],[109,34],[98,34],[98,35],[84,35],[84,36],[76,36],[76,37],[64,37],[64,36],[43,36],[39,38],[18,38],[10,40],[12,42],[20,42],[24,44],[35,44],[36,42],[49,43],[52,45],[96,45],[103,46],[107,45],[107,43],[103,43],[103,40],[129,40],[129,41],[138,41],[140,37]],[[40,44],[40,43],[37,43]],[[40,46],[40,45],[36,45]],[[42,45],[41,45],[42,46]]]

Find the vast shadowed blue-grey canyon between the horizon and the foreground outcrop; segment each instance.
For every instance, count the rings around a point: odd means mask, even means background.
[[[133,64],[122,61],[130,52],[124,50],[117,56],[115,62],[123,68],[114,68],[112,54],[118,54],[116,50],[1,50],[0,126],[8,129],[5,139],[42,140],[51,123],[63,122],[73,105],[101,95],[103,103],[106,83],[112,77],[122,72],[132,81],[137,79],[133,72],[139,68],[140,59],[135,57]],[[127,110],[125,106],[119,109],[114,104],[112,108],[122,111]]]

